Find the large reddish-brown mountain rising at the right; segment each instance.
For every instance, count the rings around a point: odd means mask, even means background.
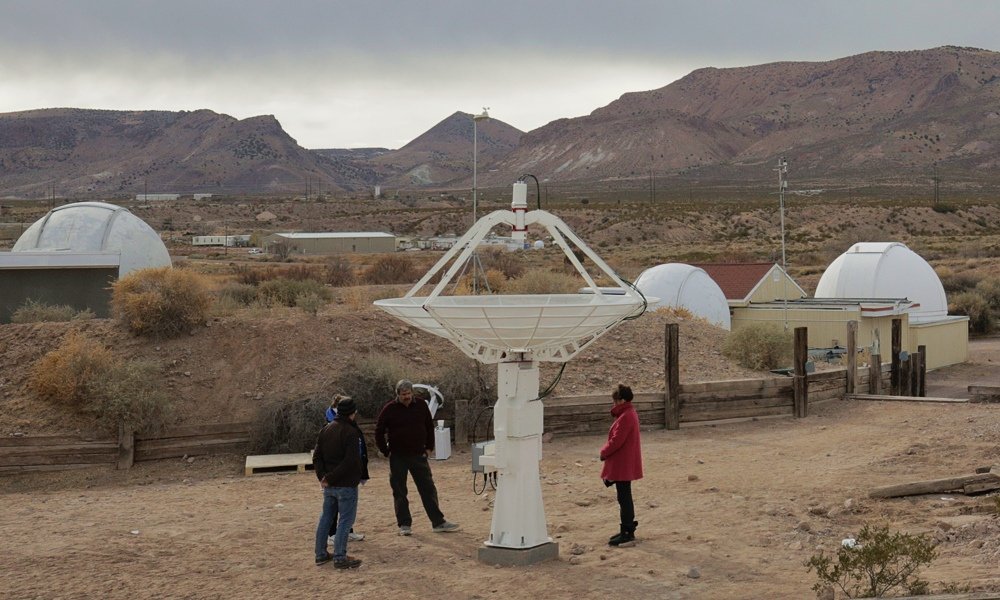
[[[942,47],[699,69],[526,133],[485,183],[525,171],[762,180],[781,155],[796,178],[815,180],[906,180],[935,166],[989,176],[1000,163],[1000,54]]]

